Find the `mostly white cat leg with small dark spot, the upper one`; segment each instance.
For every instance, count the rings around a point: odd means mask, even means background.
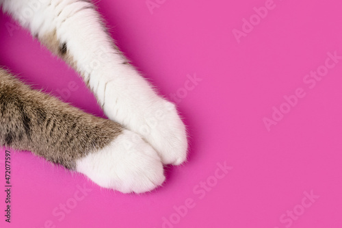
[[[186,129],[175,105],[124,58],[90,1],[3,1],[5,12],[75,68],[109,119],[140,134],[164,164],[186,160]]]

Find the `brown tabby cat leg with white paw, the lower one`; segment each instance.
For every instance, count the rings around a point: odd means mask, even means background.
[[[1,68],[0,145],[32,151],[120,192],[150,191],[165,180],[159,155],[133,131],[32,90]]]

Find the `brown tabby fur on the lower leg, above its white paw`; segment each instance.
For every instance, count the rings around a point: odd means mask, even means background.
[[[32,90],[1,68],[0,127],[0,145],[32,151],[70,169],[122,131],[118,123]]]

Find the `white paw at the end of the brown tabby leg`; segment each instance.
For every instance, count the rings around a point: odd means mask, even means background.
[[[126,129],[107,147],[77,160],[76,170],[98,186],[123,193],[148,192],[165,181],[159,155]]]

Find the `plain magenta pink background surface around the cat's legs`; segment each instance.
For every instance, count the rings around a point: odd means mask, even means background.
[[[285,227],[279,217],[301,203],[303,192],[320,197],[291,227],[342,227],[342,62],[312,90],[304,75],[342,55],[342,3],[280,1],[241,43],[241,29],[264,0],[166,1],[150,14],[144,1],[102,0],[98,8],[122,51],[161,94],[184,87],[187,74],[202,81],[178,104],[189,129],[189,161],[168,167],[163,188],[142,195],[98,188],[81,175],[31,153],[12,153],[12,223],[4,223],[4,166],[0,153],[0,226],[162,227],[173,206],[194,199],[174,227]],[[51,57],[27,31],[8,32],[0,14],[0,64],[35,88],[57,94],[69,81],[80,86],[66,101],[102,116],[92,94],[70,68]],[[12,35],[12,36],[11,36]],[[267,131],[263,117],[302,87],[289,114]],[[11,150],[13,151],[13,150]],[[233,170],[203,199],[193,192],[214,174],[217,162]],[[61,222],[52,211],[86,183],[92,192]],[[5,224],[5,226],[3,226]]]

